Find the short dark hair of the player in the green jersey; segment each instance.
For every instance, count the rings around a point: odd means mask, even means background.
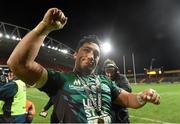
[[[78,43],[77,47],[76,47],[76,52],[79,50],[79,48],[81,46],[83,46],[83,44],[85,43],[95,43],[99,46],[100,48],[100,43],[101,41],[99,40],[99,38],[96,35],[88,35],[88,36],[84,36]]]

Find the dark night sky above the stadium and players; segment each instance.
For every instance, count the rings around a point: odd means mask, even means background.
[[[63,30],[50,36],[75,49],[85,35],[109,38],[114,59],[123,71],[132,69],[132,53],[138,73],[149,68],[180,68],[180,0],[16,0],[1,1],[0,21],[33,29],[48,8],[57,7],[68,17]]]

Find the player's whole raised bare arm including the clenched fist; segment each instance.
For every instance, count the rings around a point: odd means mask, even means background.
[[[61,10],[51,8],[43,20],[18,43],[7,61],[17,77],[30,85],[46,82],[47,70],[35,62],[35,58],[46,36],[54,30],[62,29],[66,22],[67,17]]]

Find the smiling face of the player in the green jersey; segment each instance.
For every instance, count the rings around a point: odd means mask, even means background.
[[[84,43],[74,54],[75,69],[81,73],[91,74],[96,69],[100,58],[100,48],[95,43]]]

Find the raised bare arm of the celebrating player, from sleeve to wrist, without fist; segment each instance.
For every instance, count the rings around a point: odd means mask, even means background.
[[[45,25],[40,23],[36,28],[29,32],[16,46],[10,58],[8,66],[16,76],[25,82],[34,82],[40,75],[36,72],[41,72],[42,67],[34,60],[39,52],[40,46],[43,43],[46,35]],[[27,75],[26,75],[27,74]],[[38,73],[41,74],[41,73]],[[31,77],[34,77],[33,79]]]

